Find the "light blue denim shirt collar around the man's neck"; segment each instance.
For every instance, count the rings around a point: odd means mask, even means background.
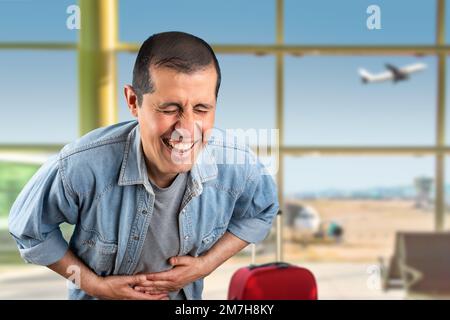
[[[217,164],[208,144],[198,155],[190,176],[199,189],[200,183],[217,177]],[[142,150],[139,124],[128,134],[118,184],[119,186],[143,184],[147,190],[152,190]]]

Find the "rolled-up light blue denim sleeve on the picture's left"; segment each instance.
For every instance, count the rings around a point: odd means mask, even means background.
[[[59,225],[75,224],[78,207],[65,182],[62,161],[58,156],[50,158],[11,208],[9,232],[26,262],[48,266],[60,260],[68,249]]]

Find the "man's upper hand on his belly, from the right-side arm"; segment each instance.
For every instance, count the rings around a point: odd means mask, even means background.
[[[147,281],[142,285],[136,285],[134,289],[147,294],[178,291],[188,283],[204,278],[213,270],[202,256],[195,258],[191,256],[172,257],[169,263],[174,268],[147,274]]]

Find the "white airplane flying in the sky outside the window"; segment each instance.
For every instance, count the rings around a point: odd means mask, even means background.
[[[392,80],[393,82],[407,80],[410,74],[418,71],[425,70],[427,65],[424,63],[413,63],[402,68],[397,68],[392,64],[386,64],[387,71],[372,74],[364,68],[358,69],[358,73],[361,76],[363,83],[369,82],[383,82]]]

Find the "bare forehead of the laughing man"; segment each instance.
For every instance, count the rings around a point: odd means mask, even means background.
[[[167,67],[151,67],[150,74],[155,96],[215,100],[217,74],[212,65],[190,73]]]

